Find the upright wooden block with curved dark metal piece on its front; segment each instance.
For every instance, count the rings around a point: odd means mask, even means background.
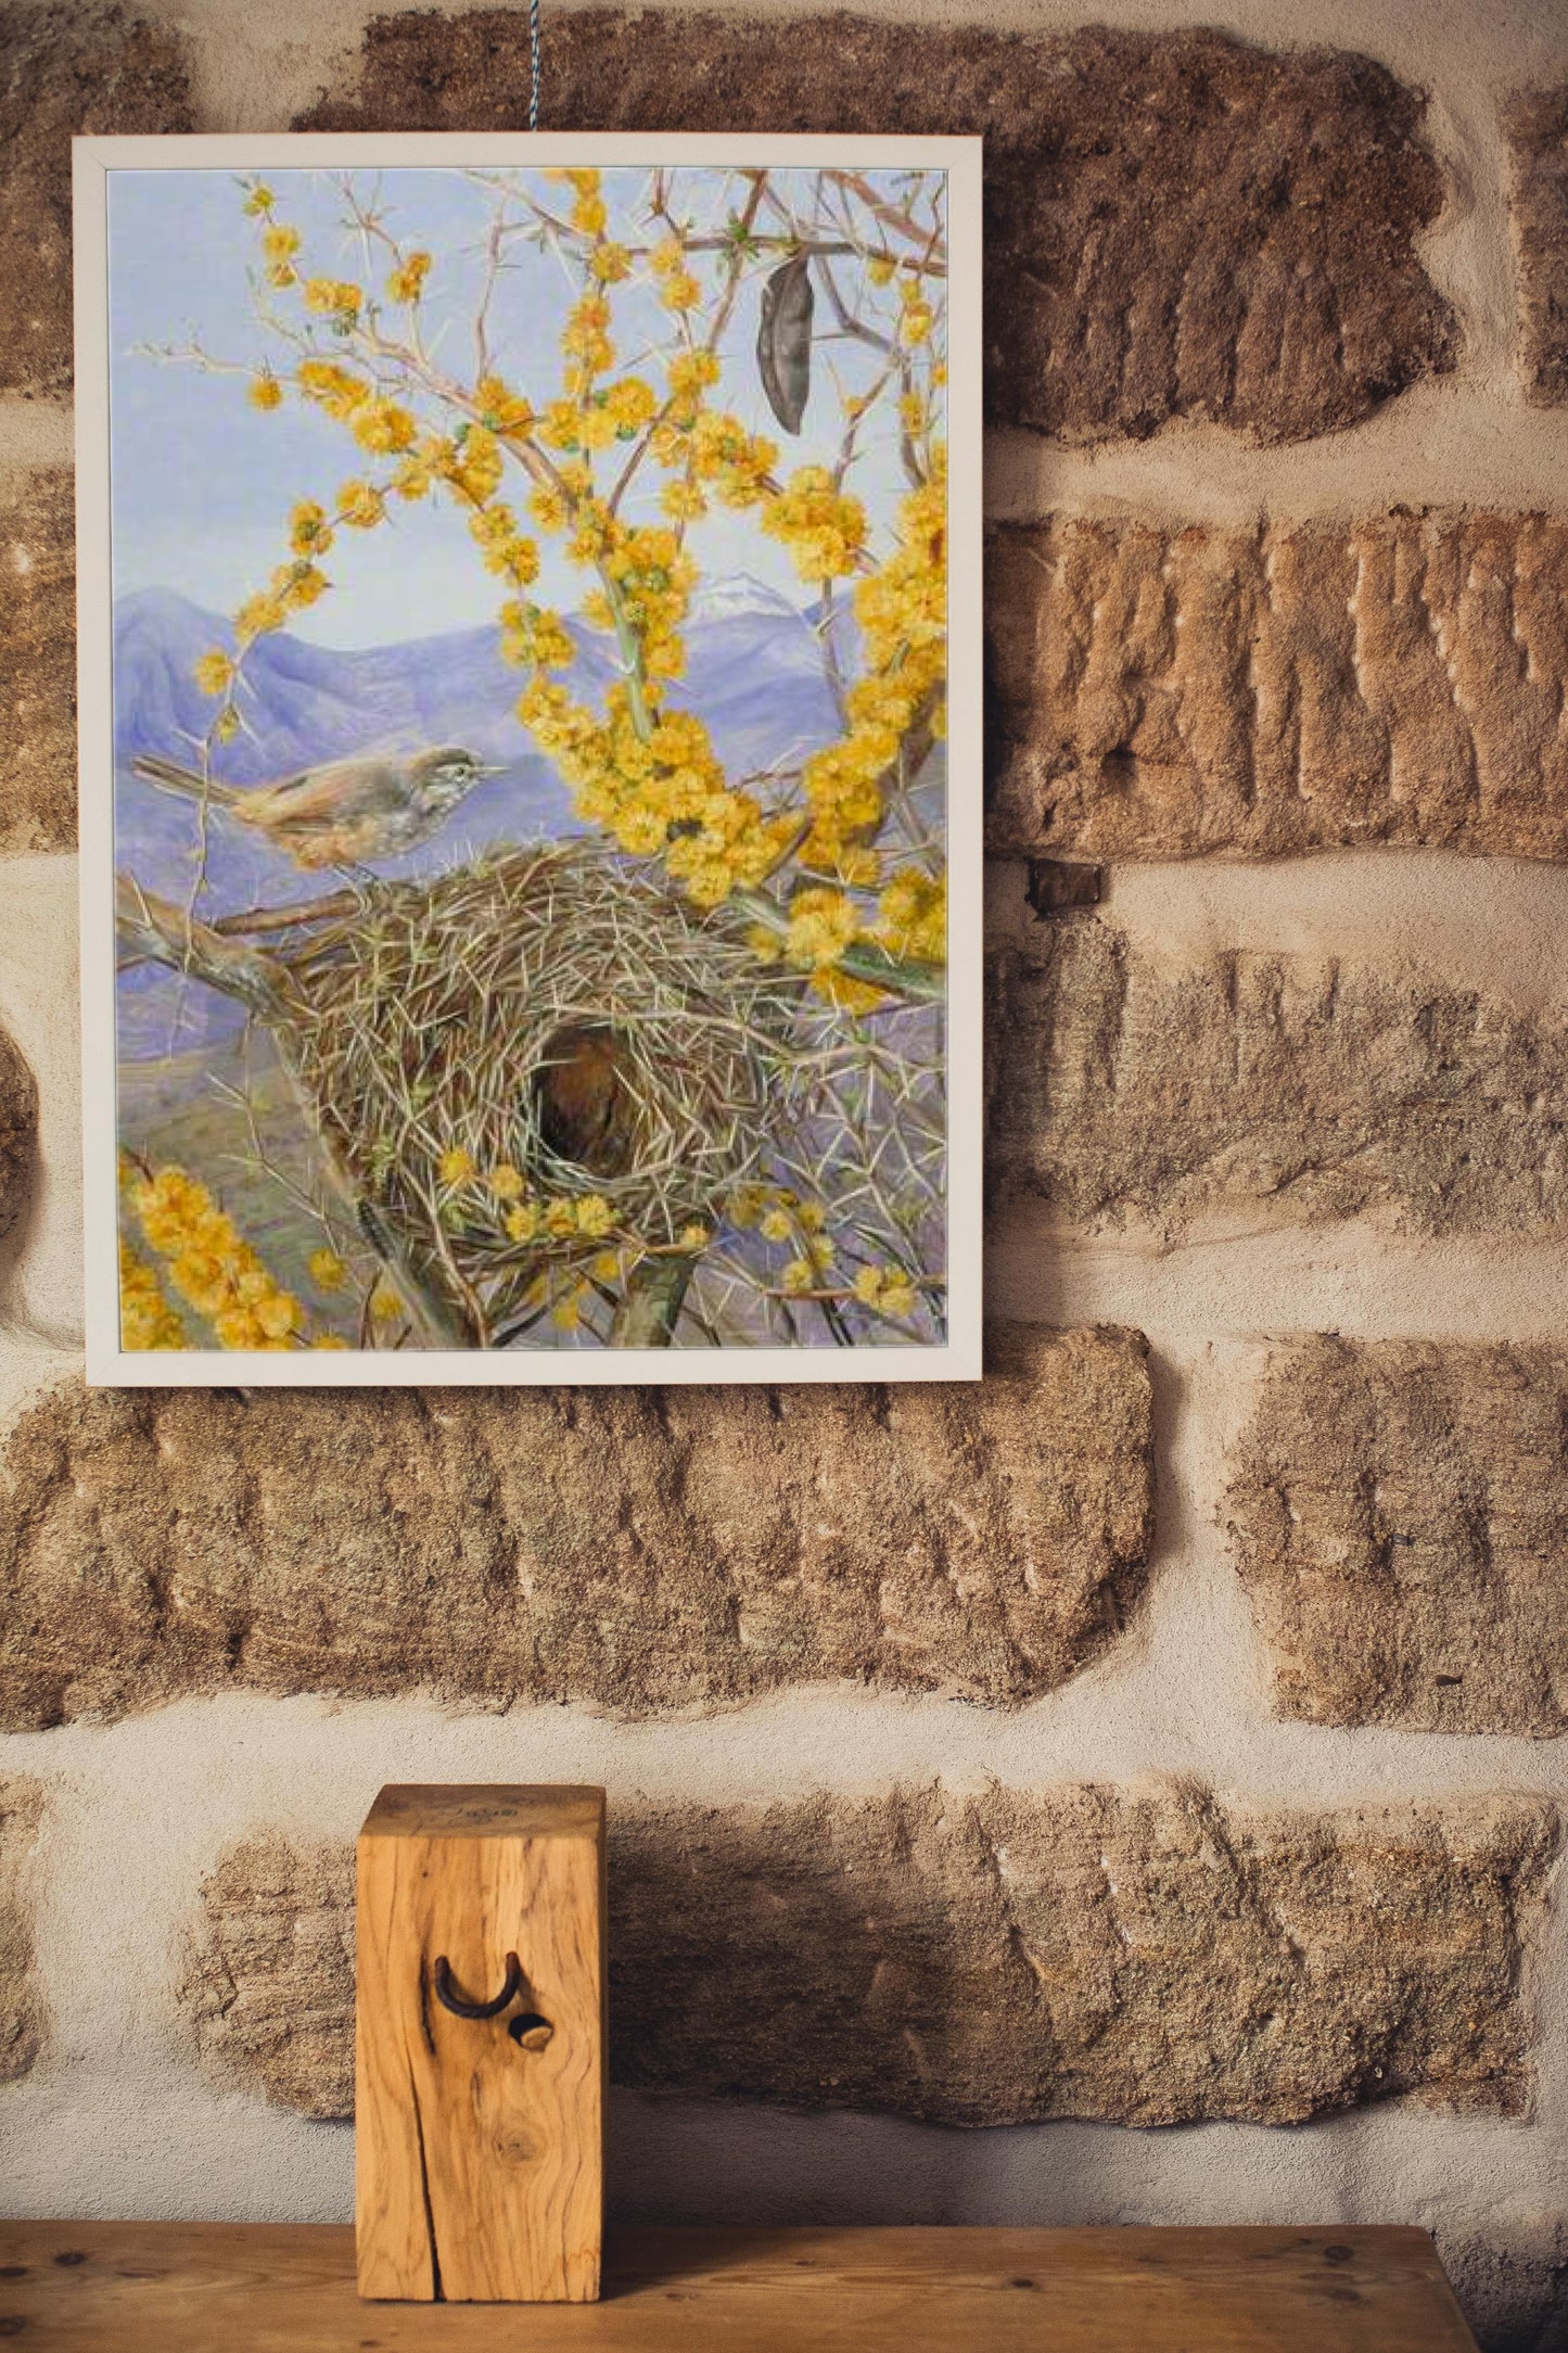
[[[604,1791],[383,1788],[360,1831],[355,1977],[360,2294],[592,2301]]]

